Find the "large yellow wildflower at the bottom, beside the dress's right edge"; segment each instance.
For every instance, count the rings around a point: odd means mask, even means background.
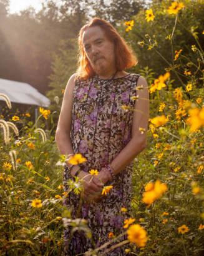
[[[131,225],[127,230],[127,238],[138,247],[144,247],[147,242],[147,232],[139,224]]]

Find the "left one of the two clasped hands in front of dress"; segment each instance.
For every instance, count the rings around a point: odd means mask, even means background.
[[[102,192],[102,187],[104,187],[104,184],[100,182],[97,176],[93,176],[87,172],[81,171],[79,173],[79,178],[82,180],[82,184],[84,186],[82,198],[94,196],[97,195],[97,193],[99,194]]]

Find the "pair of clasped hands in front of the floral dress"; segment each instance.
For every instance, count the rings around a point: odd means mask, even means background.
[[[94,203],[102,197],[102,188],[105,183],[111,180],[111,175],[107,168],[102,168],[98,175],[90,175],[90,173],[81,171],[79,178],[84,186],[82,198],[87,203]]]

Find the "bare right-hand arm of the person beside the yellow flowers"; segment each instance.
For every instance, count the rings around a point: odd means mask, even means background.
[[[114,174],[120,173],[127,165],[134,160],[135,156],[140,153],[147,145],[146,132],[148,128],[148,114],[149,114],[149,101],[148,101],[148,84],[145,78],[140,76],[138,78],[137,86],[143,86],[142,90],[137,90],[138,100],[135,101],[135,111],[132,121],[132,138],[129,143],[120,151],[110,167],[114,170]],[[145,99],[145,100],[144,100]],[[139,128],[144,128],[145,133],[141,134]],[[104,172],[99,173],[100,178],[107,182],[108,178]]]

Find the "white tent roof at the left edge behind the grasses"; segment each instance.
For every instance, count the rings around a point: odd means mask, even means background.
[[[39,93],[36,88],[33,88],[27,83],[0,78],[0,93],[8,96],[9,100],[13,103],[44,107],[50,105],[50,101],[46,96]],[[0,96],[0,101],[1,100],[4,101],[4,99]]]

